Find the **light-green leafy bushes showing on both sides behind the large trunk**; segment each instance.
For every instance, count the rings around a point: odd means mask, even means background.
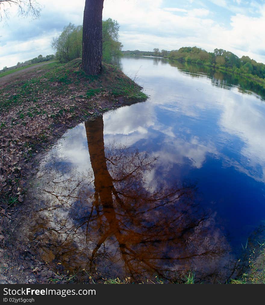
[[[110,63],[112,57],[122,56],[122,44],[119,39],[119,24],[111,18],[102,21],[102,60]],[[83,26],[69,23],[58,38],[53,38],[52,48],[60,63],[67,63],[82,56]]]

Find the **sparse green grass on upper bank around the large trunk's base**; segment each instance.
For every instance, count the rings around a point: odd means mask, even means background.
[[[19,107],[25,102],[36,102],[36,105],[41,109],[43,105],[38,105],[41,95],[44,98],[45,95],[50,96],[51,94],[53,96],[64,95],[73,90],[73,88],[69,88],[69,85],[77,87],[80,83],[84,83],[84,81],[88,84],[85,95],[87,99],[104,92],[108,92],[115,98],[124,96],[128,100],[147,99],[147,96],[139,90],[139,86],[129,78],[125,79],[116,67],[103,65],[101,75],[87,76],[79,69],[79,64],[79,60],[73,60],[67,64],[52,62],[47,66],[41,67],[44,70],[42,75],[22,83],[19,82],[17,86],[15,84],[15,88],[13,88],[14,84],[7,85],[4,89],[0,90],[2,95],[0,110],[6,111],[10,107]],[[53,99],[47,102],[51,103]],[[36,112],[36,115],[38,114]],[[20,113],[20,116],[23,117],[23,115],[23,113]],[[28,111],[28,116],[33,117],[32,111]],[[0,124],[2,123],[0,122]]]

